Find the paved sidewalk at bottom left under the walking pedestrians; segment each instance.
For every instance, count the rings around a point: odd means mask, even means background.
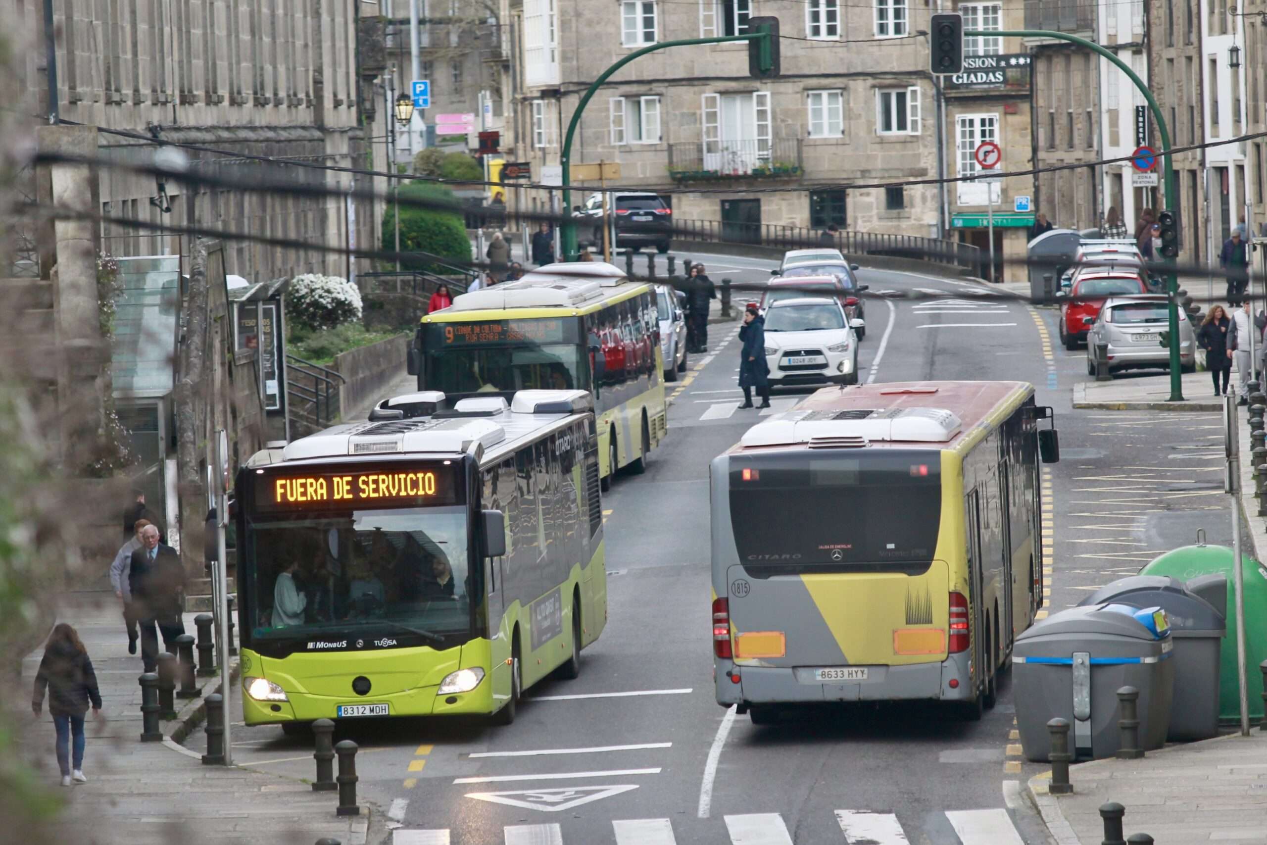
[[[100,597],[100,599],[95,599]],[[195,632],[194,616],[185,627]],[[89,717],[84,758],[86,784],[60,785],[53,758],[53,727],[47,701],[38,722],[25,709],[28,754],[38,763],[48,788],[65,799],[54,834],[82,845],[310,845],[333,837],[342,845],[381,841],[383,820],[361,807],[360,816],[337,817],[336,793],[312,792],[308,783],[236,766],[203,765],[179,740],[205,716],[204,698],[219,689],[219,678],[199,678],[203,696],[185,703],[177,718],[162,722],[162,742],[141,742],[141,658],[129,656],[127,633],[114,595],[70,594],[61,619],[75,625],[87,646],[101,689],[101,721]],[[23,660],[30,684],[42,651]],[[231,664],[237,673],[237,659]],[[27,698],[28,685],[16,698]],[[176,701],[176,706],[181,706]],[[229,713],[241,725],[241,712]],[[22,718],[18,716],[18,718]]]

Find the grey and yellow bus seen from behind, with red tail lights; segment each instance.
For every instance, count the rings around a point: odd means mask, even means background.
[[[995,703],[1043,603],[1049,408],[1016,381],[820,390],[713,460],[717,702]]]

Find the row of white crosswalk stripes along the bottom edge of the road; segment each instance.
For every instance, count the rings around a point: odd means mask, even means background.
[[[1002,807],[993,810],[948,810],[945,817],[954,829],[955,845],[1025,845]],[[892,812],[868,810],[836,810],[836,825],[843,840],[816,839],[815,845],[911,845],[902,823]],[[726,835],[731,845],[793,845],[787,822],[779,813],[744,813],[723,816]],[[678,825],[684,822],[679,821]],[[716,823],[704,822],[704,823]],[[668,818],[612,820],[616,845],[678,845],[678,834]],[[578,845],[571,835],[565,840],[559,823],[508,825],[504,829],[506,845]],[[598,845],[585,837],[584,845]],[[919,837],[917,837],[919,839]],[[609,841],[609,840],[606,840]],[[683,840],[685,841],[685,840]],[[919,839],[919,841],[924,841]],[[940,840],[939,840],[940,841]],[[449,830],[393,831],[392,845],[465,845],[454,842]],[[488,845],[480,842],[480,845]]]

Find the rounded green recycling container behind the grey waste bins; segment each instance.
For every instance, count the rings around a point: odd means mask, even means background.
[[[1219,670],[1219,721],[1240,721],[1240,699],[1237,689],[1237,600],[1232,578],[1232,549],[1228,546],[1181,546],[1157,557],[1139,570],[1140,575],[1169,575],[1182,581],[1201,575],[1223,575],[1228,581],[1228,633],[1223,637]],[[1263,716],[1262,673],[1258,665],[1267,660],[1267,569],[1257,560],[1240,556],[1245,584],[1245,685],[1249,718]]]

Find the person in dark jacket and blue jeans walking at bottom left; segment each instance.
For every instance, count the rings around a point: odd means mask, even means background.
[[[101,717],[101,690],[98,689],[87,649],[79,632],[65,622],[53,627],[44,644],[44,656],[39,661],[30,697],[30,709],[35,716],[43,711],[46,689],[48,715],[53,717],[57,731],[57,766],[62,772],[62,785],[71,785],[71,779],[87,783],[84,777],[84,717],[90,704],[92,716]]]

